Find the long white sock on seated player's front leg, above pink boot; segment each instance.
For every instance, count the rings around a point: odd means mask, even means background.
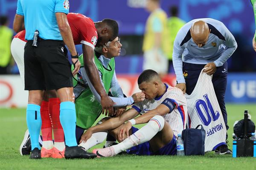
[[[143,126],[140,130],[129,136],[123,142],[113,145],[115,154],[130,149],[144,142],[152,139],[158,132],[163,129],[164,119],[162,116],[154,116],[149,120],[147,125]]]

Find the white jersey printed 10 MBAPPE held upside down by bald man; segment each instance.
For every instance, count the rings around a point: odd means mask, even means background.
[[[204,73],[203,70],[192,94],[185,96],[189,128],[203,125],[206,133],[204,151],[208,152],[225,144],[227,129],[212,85],[212,76]]]

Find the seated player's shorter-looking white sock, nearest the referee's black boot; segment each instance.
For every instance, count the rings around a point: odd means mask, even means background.
[[[102,143],[107,138],[107,132],[96,132],[84,143],[81,142],[78,146],[84,147],[85,150],[89,150],[96,144]]]

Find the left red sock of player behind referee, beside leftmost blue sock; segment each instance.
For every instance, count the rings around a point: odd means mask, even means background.
[[[48,102],[42,101],[40,112],[42,119],[41,131],[43,141],[52,141],[52,123],[49,117]]]

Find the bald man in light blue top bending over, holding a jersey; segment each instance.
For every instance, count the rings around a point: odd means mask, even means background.
[[[212,84],[227,129],[227,111],[224,96],[227,87],[227,59],[236,51],[237,43],[227,27],[211,18],[195,19],[186,23],[177,33],[173,48],[173,66],[177,88],[191,94],[203,68],[212,75]],[[227,145],[215,150],[224,154]]]

